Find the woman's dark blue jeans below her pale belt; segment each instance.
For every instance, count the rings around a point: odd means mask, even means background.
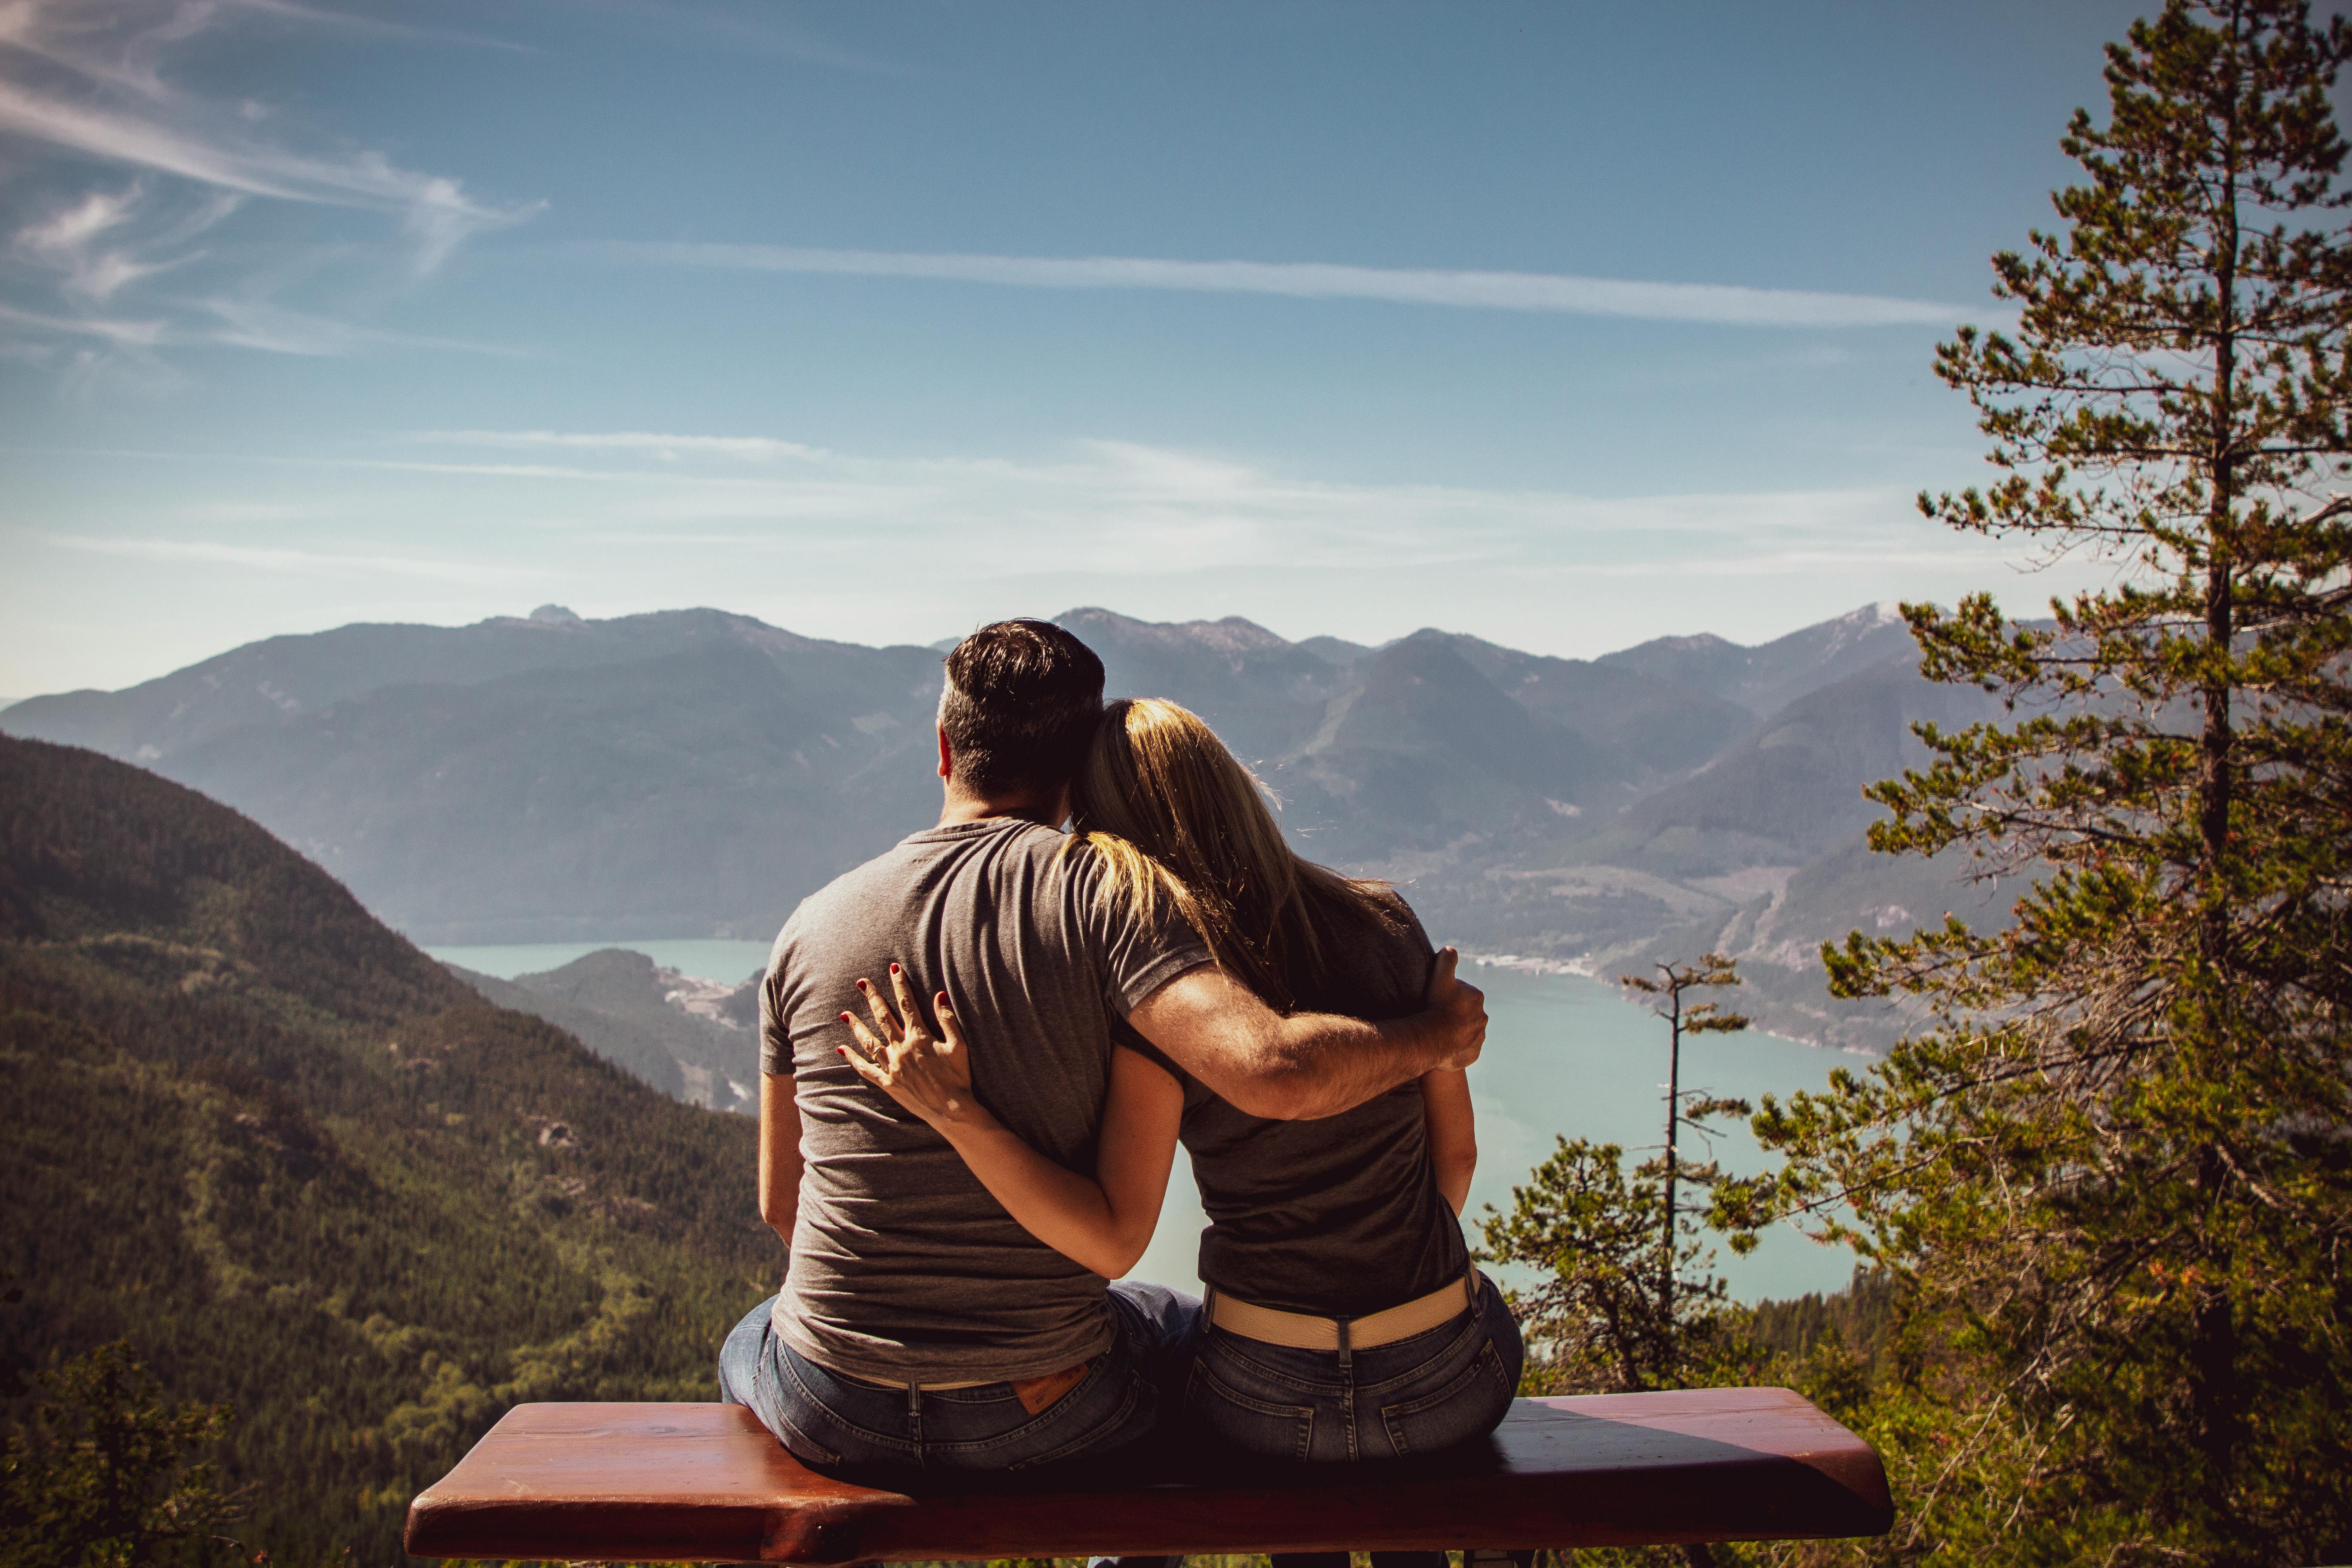
[[[1214,1443],[1265,1460],[1402,1460],[1486,1436],[1526,1359],[1503,1293],[1374,1349],[1291,1349],[1209,1328],[1185,1415]]]

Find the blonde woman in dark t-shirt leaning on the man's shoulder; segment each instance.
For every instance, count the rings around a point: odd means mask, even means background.
[[[1432,952],[1404,900],[1294,856],[1258,780],[1176,703],[1110,705],[1073,788],[1073,830],[1065,853],[1112,872],[1103,896],[1171,907],[1270,1006],[1359,1018],[1421,1006]],[[1491,1432],[1510,1408],[1519,1333],[1458,1222],[1477,1164],[1463,1072],[1338,1117],[1265,1121],[1129,1037],[1089,1180],[971,1100],[946,992],[934,1039],[903,980],[898,1011],[861,990],[875,1032],[851,1018],[868,1056],[844,1051],[851,1065],[938,1128],[1040,1241],[1105,1276],[1143,1255],[1181,1133],[1209,1213],[1185,1410],[1225,1446],[1397,1458]]]

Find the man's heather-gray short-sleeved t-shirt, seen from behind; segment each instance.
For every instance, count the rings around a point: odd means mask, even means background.
[[[858,978],[946,990],[971,1091],[1033,1150],[1094,1175],[1110,1030],[1209,961],[1181,922],[1096,907],[1101,863],[1023,818],[927,827],[811,893],[760,987],[760,1067],[800,1103],[800,1220],[776,1331],[802,1356],[884,1382],[993,1382],[1110,1345],[1101,1274],[1030,1237],[946,1138],[866,1084],[849,1044]]]

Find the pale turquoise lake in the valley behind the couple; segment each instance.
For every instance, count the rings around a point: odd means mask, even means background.
[[[663,969],[727,983],[743,980],[767,961],[767,943],[637,938],[426,952],[513,978],[557,969],[597,947],[633,947]],[[1470,1220],[1486,1204],[1510,1208],[1510,1190],[1552,1152],[1559,1135],[1621,1143],[1628,1159],[1639,1159],[1637,1150],[1656,1150],[1665,1133],[1665,1025],[1658,1018],[1623,1001],[1616,987],[1581,976],[1534,976],[1475,964],[1465,978],[1486,992],[1489,1016],[1486,1051],[1470,1070],[1479,1143]],[[1867,1060],[1759,1032],[1700,1034],[1684,1044],[1682,1056],[1684,1086],[1750,1100],[1820,1088],[1832,1067],[1860,1067]],[[1689,1157],[1705,1159],[1705,1145],[1682,1147]],[[1745,1126],[1717,1133],[1715,1154],[1731,1171],[1757,1171],[1764,1164]],[[1192,1269],[1202,1222],[1190,1171],[1178,1171],[1169,1182],[1160,1232],[1134,1274],[1197,1291]],[[1759,1300],[1835,1291],[1851,1276],[1853,1258],[1783,1229],[1766,1234],[1748,1258],[1731,1258],[1722,1248],[1717,1272],[1731,1281],[1733,1295]]]

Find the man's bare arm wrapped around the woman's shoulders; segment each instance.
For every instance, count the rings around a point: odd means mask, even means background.
[[[1334,1013],[1284,1018],[1214,964],[1185,971],[1127,1016],[1178,1067],[1235,1110],[1312,1121],[1355,1110],[1437,1067],[1468,1067],[1486,1041],[1486,997],[1454,976],[1451,947],[1430,966],[1425,1009],[1364,1023]]]

